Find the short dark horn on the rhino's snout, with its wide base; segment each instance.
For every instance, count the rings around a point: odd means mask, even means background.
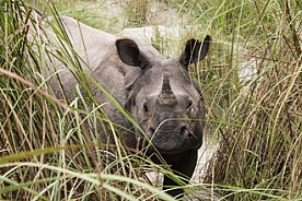
[[[173,91],[171,88],[169,75],[166,73],[163,76],[162,91],[161,91],[160,95],[158,96],[158,100],[161,105],[176,104],[175,94],[173,93]]]

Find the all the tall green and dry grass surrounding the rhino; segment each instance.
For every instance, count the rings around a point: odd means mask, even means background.
[[[73,103],[53,95],[48,81],[55,74],[46,73],[54,68],[46,48],[51,42],[37,36],[34,51],[25,23],[35,19],[24,2],[0,1],[0,200],[172,200],[146,176],[151,169],[170,173],[141,153],[128,155],[96,99],[83,98],[80,91]],[[45,0],[37,8],[119,34],[126,26],[156,25],[155,2],[128,0],[116,15],[103,12],[107,1]],[[161,3],[176,9],[178,25],[186,25],[181,40],[213,38],[210,56],[191,73],[208,108],[205,131],[218,139],[218,147],[204,184],[185,187],[187,193],[197,200],[204,199],[200,189],[222,200],[302,200],[302,1]],[[69,45],[63,29],[56,34]],[[158,39],[152,43],[161,51],[172,42],[174,51],[184,44]],[[77,54],[56,48],[79,78]],[[109,158],[109,147],[93,132],[96,122],[113,128]]]

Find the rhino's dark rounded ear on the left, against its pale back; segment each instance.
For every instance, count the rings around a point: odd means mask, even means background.
[[[121,38],[117,39],[115,45],[117,54],[124,63],[132,67],[141,66],[141,61],[139,60],[140,50],[133,40],[129,38]]]

